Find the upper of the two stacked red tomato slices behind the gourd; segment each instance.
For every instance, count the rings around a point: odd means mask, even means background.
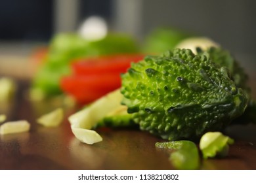
[[[95,75],[97,73],[125,73],[132,62],[140,61],[144,56],[139,54],[103,56],[80,59],[72,63],[75,75]]]

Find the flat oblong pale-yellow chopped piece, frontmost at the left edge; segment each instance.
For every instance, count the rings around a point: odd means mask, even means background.
[[[0,134],[5,135],[9,133],[21,133],[30,130],[30,124],[26,120],[19,120],[16,122],[6,122],[0,126]]]

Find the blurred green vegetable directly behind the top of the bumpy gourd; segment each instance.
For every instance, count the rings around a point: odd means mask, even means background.
[[[180,29],[158,27],[146,36],[142,50],[146,54],[161,54],[173,50],[179,42],[191,36],[192,33]]]

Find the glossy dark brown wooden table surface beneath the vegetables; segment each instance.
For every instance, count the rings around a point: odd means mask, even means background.
[[[250,61],[245,65],[256,99],[256,64]],[[0,114],[5,112],[7,120],[28,120],[32,129],[0,136],[0,169],[173,169],[169,153],[155,148],[155,143],[162,140],[137,129],[98,129],[102,142],[79,142],[67,120],[74,108],[65,109],[65,119],[59,127],[36,124],[41,114],[58,103],[32,103],[25,97],[28,80],[17,78],[17,84],[14,101],[1,103]],[[202,160],[201,169],[256,169],[256,125],[233,125],[226,133],[235,139],[228,156]]]

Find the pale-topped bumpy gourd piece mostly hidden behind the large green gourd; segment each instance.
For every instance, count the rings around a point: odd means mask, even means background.
[[[247,108],[245,108],[244,114],[236,118],[235,123],[245,124],[245,122],[256,122],[256,102],[251,97],[251,89],[248,85],[249,77],[247,73],[245,73],[244,68],[240,66],[240,63],[228,50],[221,48],[216,42],[211,41],[211,39],[203,37],[184,39],[177,47],[191,48],[195,54],[203,54],[220,67],[226,67],[228,69],[228,75],[234,80],[236,86],[242,88],[247,93],[247,97],[249,97],[249,103]]]

